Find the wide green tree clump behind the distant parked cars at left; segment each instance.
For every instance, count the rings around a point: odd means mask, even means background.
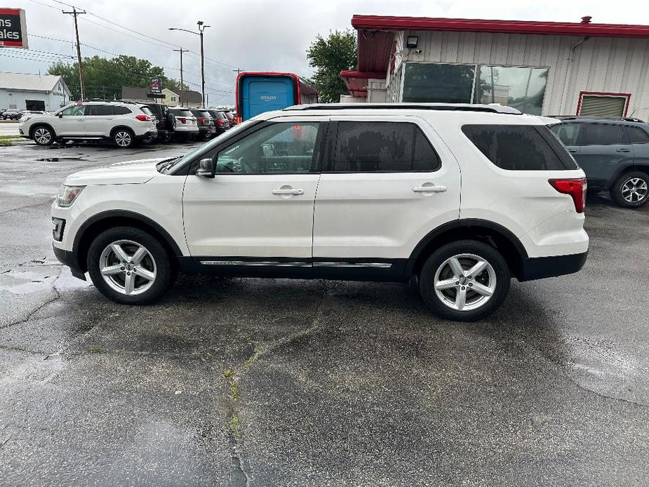
[[[81,98],[79,87],[79,65],[74,62],[55,62],[50,65],[48,74],[62,76],[67,84],[72,98]],[[138,59],[135,56],[119,55],[115,58],[83,58],[83,84],[86,88],[86,98],[121,98],[122,86],[149,86],[149,80],[159,76],[163,88],[180,89],[180,82],[167,78],[163,68],[154,66],[149,60]],[[185,90],[189,87],[185,85]]]

